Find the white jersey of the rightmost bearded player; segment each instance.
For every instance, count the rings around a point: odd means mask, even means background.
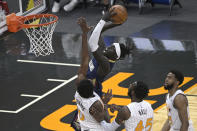
[[[166,106],[167,106],[167,111],[168,111],[168,119],[171,124],[171,129],[170,129],[171,131],[179,131],[182,125],[179,119],[178,110],[174,108],[174,98],[178,94],[185,95],[183,91],[177,90],[173,96],[170,97],[169,94],[167,94],[167,97],[166,97]],[[193,126],[192,126],[192,121],[190,120],[190,116],[189,116],[188,106],[187,106],[187,114],[188,114],[188,120],[189,120],[188,131],[194,131]]]

